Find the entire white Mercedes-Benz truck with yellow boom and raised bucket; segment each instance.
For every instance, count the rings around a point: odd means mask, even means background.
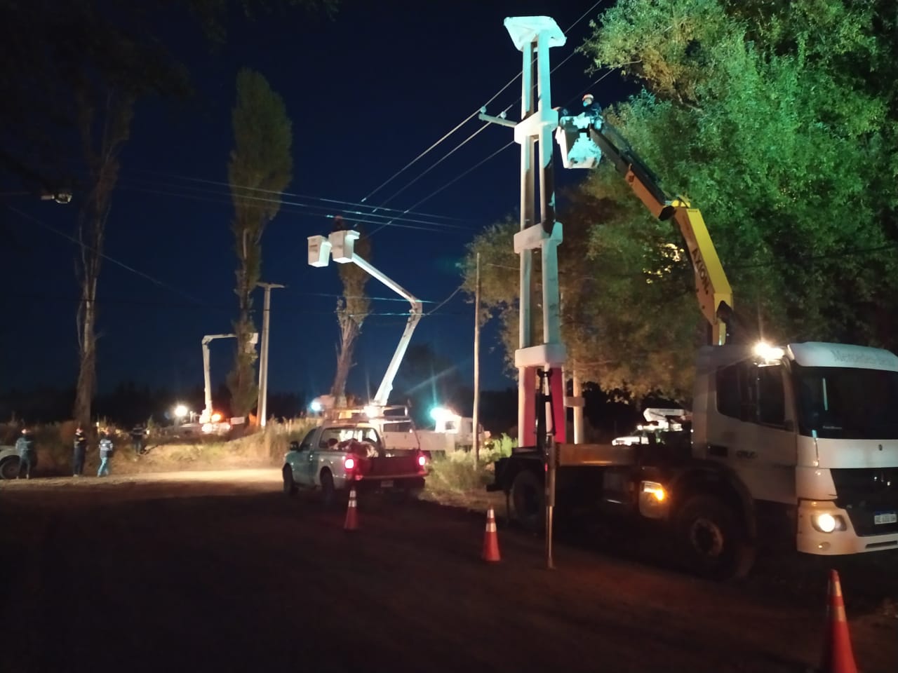
[[[898,548],[898,357],[860,345],[727,343],[732,293],[699,210],[669,197],[597,110],[562,115],[556,140],[565,167],[604,157],[651,214],[677,224],[710,344],[698,354],[691,428],[629,445],[549,436],[498,460],[488,489],[506,493],[525,527],[546,529],[547,549],[553,508],[586,508],[619,526],[655,520],[659,544],[709,577],[748,572],[775,538],[812,555]],[[537,419],[551,397],[537,395]]]

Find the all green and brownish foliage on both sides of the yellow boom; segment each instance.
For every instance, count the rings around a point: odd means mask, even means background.
[[[603,116],[700,208],[753,334],[898,345],[885,318],[898,289],[886,6],[620,0],[585,42],[596,68],[642,84]],[[607,162],[579,191],[559,211],[572,358],[603,389],[687,398],[703,324],[680,233]]]

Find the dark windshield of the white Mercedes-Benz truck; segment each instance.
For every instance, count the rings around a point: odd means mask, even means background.
[[[821,439],[898,439],[898,371],[794,365],[798,432]]]

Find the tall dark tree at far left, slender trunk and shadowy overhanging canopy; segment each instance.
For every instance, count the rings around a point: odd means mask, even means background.
[[[88,423],[96,379],[96,293],[119,153],[136,101],[189,95],[189,76],[161,38],[192,19],[212,44],[233,6],[244,16],[301,5],[332,13],[337,0],[168,0],[109,3],[0,0],[0,179],[36,194],[72,188],[80,203],[75,258],[79,373],[74,415]],[[73,179],[79,149],[86,179]],[[76,172],[76,171],[75,171]]]

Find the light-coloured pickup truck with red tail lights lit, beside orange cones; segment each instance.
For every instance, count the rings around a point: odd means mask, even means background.
[[[336,421],[291,442],[282,473],[284,493],[318,490],[325,504],[350,487],[408,496],[424,488],[427,456],[419,449],[387,450],[372,424]]]

